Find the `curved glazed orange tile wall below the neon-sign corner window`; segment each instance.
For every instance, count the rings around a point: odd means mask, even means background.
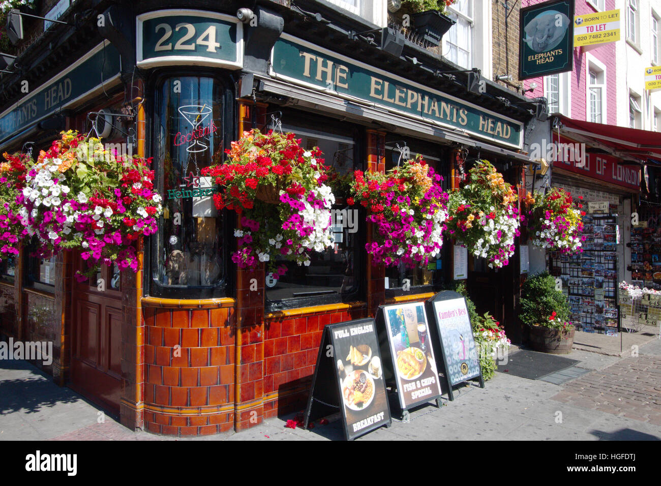
[[[144,307],[143,316],[145,428],[177,436],[231,430],[234,309]]]

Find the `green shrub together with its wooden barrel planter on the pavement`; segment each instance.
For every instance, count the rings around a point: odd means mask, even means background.
[[[520,307],[519,318],[530,329],[531,348],[551,354],[571,352],[574,326],[567,321],[569,305],[549,272],[525,280]]]

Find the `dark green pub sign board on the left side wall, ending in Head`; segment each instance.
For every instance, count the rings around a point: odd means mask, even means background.
[[[116,48],[109,42],[105,47],[99,44],[0,114],[0,143],[80,99],[91,97],[95,91],[102,89],[101,81],[107,89],[119,78],[120,67],[120,55]]]

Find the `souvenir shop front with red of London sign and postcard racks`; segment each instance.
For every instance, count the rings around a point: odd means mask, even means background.
[[[644,159],[624,142],[635,138],[620,134],[618,145],[613,134],[605,133],[609,127],[565,117],[558,122],[554,142],[563,149],[553,162],[551,186],[568,190],[574,199],[582,198],[586,241],[578,255],[547,253],[547,264],[562,279],[577,329],[615,335],[617,286],[635,275],[632,215],[639,206]],[[617,130],[636,132],[632,137],[642,132]],[[650,132],[642,136],[649,137]]]

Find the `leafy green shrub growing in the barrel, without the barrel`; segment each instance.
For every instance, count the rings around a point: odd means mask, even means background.
[[[569,317],[569,304],[563,292],[556,290],[555,278],[549,272],[529,276],[525,280],[520,300],[519,318],[527,325],[558,327],[549,323],[549,317],[555,311],[555,323],[562,323]]]

